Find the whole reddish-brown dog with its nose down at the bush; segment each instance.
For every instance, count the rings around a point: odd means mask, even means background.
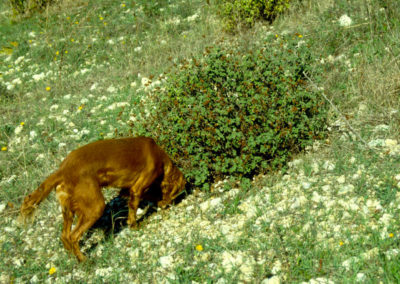
[[[128,224],[136,226],[140,200],[154,182],[160,182],[165,207],[184,189],[186,181],[167,154],[146,137],[101,140],[72,151],[32,194],[25,197],[21,217],[33,216],[37,205],[53,188],[64,218],[61,240],[79,261],[85,256],[78,241],[103,213],[105,204],[101,187],[129,189]],[[78,216],[71,232],[74,215]]]

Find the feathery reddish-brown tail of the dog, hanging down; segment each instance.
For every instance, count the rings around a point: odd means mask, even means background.
[[[36,207],[42,202],[58,184],[62,182],[62,177],[57,171],[51,174],[42,184],[31,194],[25,197],[21,205],[20,222],[26,223],[27,220],[33,221]]]

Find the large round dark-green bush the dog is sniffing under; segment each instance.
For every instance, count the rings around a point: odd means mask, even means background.
[[[310,53],[295,37],[248,53],[211,47],[182,62],[137,108],[135,132],[158,140],[196,186],[281,167],[322,138],[326,120],[303,75]]]

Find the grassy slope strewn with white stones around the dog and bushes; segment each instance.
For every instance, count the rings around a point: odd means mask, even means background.
[[[0,5],[1,283],[400,281],[397,1],[296,2],[273,27],[235,36],[205,1],[66,0],[14,19]],[[23,197],[69,151],[134,134],[135,108],[174,63],[266,33],[301,34],[324,68],[315,80],[340,111],[329,139],[251,185],[227,177],[194,191],[137,231],[96,231],[83,264],[62,247],[53,194],[18,225]]]

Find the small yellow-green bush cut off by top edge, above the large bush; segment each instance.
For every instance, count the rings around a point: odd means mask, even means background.
[[[253,26],[255,21],[264,19],[272,22],[289,7],[291,0],[218,0],[219,13],[225,28],[235,31]]]

